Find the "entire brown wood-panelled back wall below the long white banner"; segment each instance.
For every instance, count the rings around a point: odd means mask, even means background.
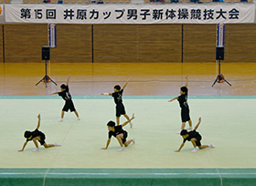
[[[59,24],[51,62],[215,62],[216,30],[215,24]],[[4,56],[6,63],[42,62],[47,24],[4,25],[4,36],[2,26],[0,62]],[[255,41],[256,24],[226,24],[224,61],[256,62]]]

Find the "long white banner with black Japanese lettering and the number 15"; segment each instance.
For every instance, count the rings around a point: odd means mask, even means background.
[[[5,5],[5,22],[11,23],[254,23],[254,17],[254,4]]]

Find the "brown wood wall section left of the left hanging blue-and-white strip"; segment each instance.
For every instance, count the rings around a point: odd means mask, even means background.
[[[5,25],[5,62],[41,62],[41,47],[48,46],[47,25]]]

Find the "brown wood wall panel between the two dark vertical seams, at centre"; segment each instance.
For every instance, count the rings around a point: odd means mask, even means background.
[[[95,62],[179,62],[181,25],[96,25]]]

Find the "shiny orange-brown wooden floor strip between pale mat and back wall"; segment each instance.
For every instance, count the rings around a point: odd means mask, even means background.
[[[59,85],[69,74],[72,95],[98,96],[112,92],[115,84],[123,85],[132,78],[125,95],[177,95],[189,74],[189,95],[254,95],[256,63],[222,63],[221,73],[231,83],[216,84],[218,66],[215,63],[122,63],[48,65],[48,75]],[[43,83],[35,86],[45,75],[44,63],[0,64],[0,95],[49,95],[59,91],[59,85]]]

